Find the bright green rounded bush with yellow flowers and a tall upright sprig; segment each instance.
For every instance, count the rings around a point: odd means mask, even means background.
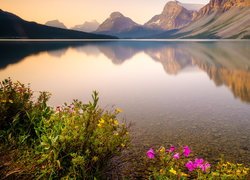
[[[41,153],[41,176],[94,178],[102,175],[108,160],[129,143],[128,127],[119,124],[120,112],[98,108],[98,94],[93,102],[58,107],[44,123],[38,150]]]

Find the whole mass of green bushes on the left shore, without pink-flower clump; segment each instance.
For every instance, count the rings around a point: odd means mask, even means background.
[[[20,82],[1,83],[0,145],[23,149],[18,164],[29,162],[26,171],[36,178],[101,177],[109,160],[129,144],[128,126],[117,120],[121,110],[99,108],[97,92],[88,104],[74,100],[56,110],[47,106],[46,92],[33,99]]]

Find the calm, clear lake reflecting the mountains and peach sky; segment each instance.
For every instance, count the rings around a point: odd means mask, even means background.
[[[123,109],[133,143],[250,163],[250,41],[0,42],[0,79]]]

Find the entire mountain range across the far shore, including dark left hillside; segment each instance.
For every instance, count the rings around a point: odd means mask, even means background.
[[[113,12],[101,24],[96,21],[85,22],[72,27],[74,31],[66,30],[67,27],[58,20],[48,21],[47,26],[43,26],[24,21],[14,14],[1,10],[0,25],[0,38],[111,38],[110,36],[116,36],[138,39],[250,39],[250,0],[210,0],[203,7],[200,4],[169,1],[160,14],[153,16],[143,25],[120,12]]]

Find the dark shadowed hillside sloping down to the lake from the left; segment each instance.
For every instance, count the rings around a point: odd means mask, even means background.
[[[31,39],[113,39],[115,37],[84,33],[74,30],[49,27],[28,22],[20,17],[0,10],[0,38]]]

